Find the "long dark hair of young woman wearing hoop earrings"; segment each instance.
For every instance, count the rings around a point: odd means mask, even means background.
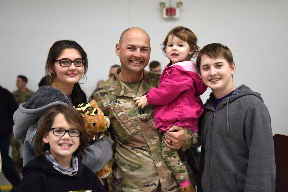
[[[54,81],[54,79],[56,78],[56,72],[54,70],[54,60],[56,60],[56,58],[62,54],[62,52],[65,49],[75,49],[77,50],[82,59],[85,59],[84,62],[84,73],[87,72],[88,69],[88,58],[87,58],[87,54],[84,51],[84,49],[75,41],[72,40],[60,40],[60,41],[56,41],[52,47],[49,50],[48,56],[47,56],[47,60],[46,60],[46,66],[45,66],[45,74],[46,74],[46,83],[47,85],[51,85],[51,82]],[[51,79],[50,78],[50,71],[49,69],[51,69],[53,71],[53,73],[51,74]],[[77,106],[80,103],[86,102],[87,98],[86,98],[86,94],[85,92],[81,89],[79,83],[75,83],[73,90],[72,90],[72,94],[70,95],[71,101],[73,103],[74,106]]]

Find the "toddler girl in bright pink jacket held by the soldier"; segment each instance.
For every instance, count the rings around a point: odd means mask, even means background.
[[[199,49],[196,44],[197,37],[190,29],[182,26],[173,28],[162,44],[162,50],[170,63],[162,72],[159,87],[134,99],[142,109],[148,104],[155,105],[154,121],[160,132],[165,132],[173,125],[198,131],[198,117],[204,111],[199,96],[206,91],[207,86],[199,77],[196,62],[190,60]],[[172,170],[179,187],[185,188],[190,185],[187,169],[177,151],[165,145],[164,138],[163,134],[163,159]]]

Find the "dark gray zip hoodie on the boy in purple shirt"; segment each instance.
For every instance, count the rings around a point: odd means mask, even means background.
[[[271,119],[260,94],[240,85],[216,110],[213,98],[200,127],[197,191],[275,191]]]

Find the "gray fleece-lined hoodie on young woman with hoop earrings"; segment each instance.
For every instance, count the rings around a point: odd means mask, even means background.
[[[70,98],[52,86],[41,86],[31,98],[19,105],[14,113],[13,132],[18,142],[23,143],[23,165],[37,157],[35,137],[41,123],[42,114],[56,105],[73,107]],[[105,137],[84,149],[82,163],[93,172],[100,171],[112,157],[113,141]]]

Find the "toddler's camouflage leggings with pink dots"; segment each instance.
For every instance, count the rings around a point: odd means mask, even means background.
[[[189,180],[188,172],[181,161],[180,157],[178,156],[176,149],[170,149],[166,146],[165,142],[165,136],[163,134],[162,136],[162,157],[165,161],[165,163],[168,165],[168,167],[173,172],[174,176],[177,179],[178,183],[184,182]]]

